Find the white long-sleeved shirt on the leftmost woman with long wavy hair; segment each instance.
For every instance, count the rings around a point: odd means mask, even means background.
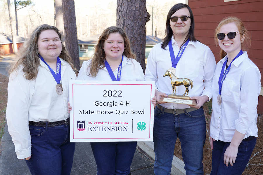
[[[40,59],[39,59],[40,60]],[[28,121],[55,122],[68,115],[69,81],[76,79],[71,66],[61,61],[63,95],[56,93],[56,81],[47,65],[40,60],[36,79],[27,80],[22,67],[10,74],[6,119],[18,159],[31,155],[31,137]],[[55,71],[56,72],[56,71]]]

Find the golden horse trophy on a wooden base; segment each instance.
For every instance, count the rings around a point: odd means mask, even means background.
[[[178,104],[197,105],[195,99],[190,99],[190,97],[187,96],[189,91],[189,86],[191,85],[191,88],[193,88],[193,81],[188,78],[178,78],[177,76],[175,76],[175,70],[176,68],[171,67],[163,75],[164,77],[165,76],[170,77],[173,91],[171,95],[168,95],[168,97],[162,96],[160,101],[169,102],[169,103],[178,103]],[[180,86],[180,85],[184,85],[185,87],[184,95],[175,95],[176,86]]]

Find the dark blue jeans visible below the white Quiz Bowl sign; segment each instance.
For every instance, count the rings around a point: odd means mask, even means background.
[[[91,142],[98,175],[127,175],[137,142]]]

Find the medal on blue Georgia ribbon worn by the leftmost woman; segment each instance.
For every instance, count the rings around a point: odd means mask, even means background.
[[[59,57],[57,57],[57,74],[53,71],[53,69],[51,69],[51,67],[46,63],[46,61],[41,57],[41,55],[38,55],[39,58],[47,65],[47,67],[49,68],[52,76],[54,77],[55,81],[57,82],[57,85],[56,85],[56,92],[58,95],[61,95],[63,94],[63,88],[62,88],[62,84],[60,83],[60,80],[61,80],[61,74],[60,74],[60,71],[61,71],[61,61],[59,59]]]

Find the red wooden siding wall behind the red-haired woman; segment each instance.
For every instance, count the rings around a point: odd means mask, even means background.
[[[216,61],[219,58],[219,46],[214,43],[214,31],[218,23],[227,16],[240,18],[251,34],[251,47],[248,57],[261,72],[263,85],[263,1],[240,0],[224,2],[224,0],[188,0],[195,19],[195,37],[209,46]],[[263,113],[263,96],[259,95],[259,113]]]

